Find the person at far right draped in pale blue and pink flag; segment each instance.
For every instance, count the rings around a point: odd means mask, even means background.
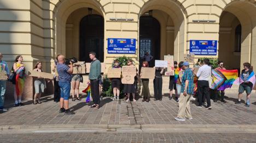
[[[241,104],[243,92],[246,91],[246,107],[250,106],[250,97],[255,83],[255,74],[250,63],[243,63],[243,70],[239,78],[238,100],[235,104]],[[254,79],[254,80],[253,80]]]

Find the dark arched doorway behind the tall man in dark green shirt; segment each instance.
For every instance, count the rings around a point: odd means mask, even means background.
[[[104,60],[104,18],[87,15],[80,21],[79,60],[90,62],[89,52],[94,51],[98,60]]]

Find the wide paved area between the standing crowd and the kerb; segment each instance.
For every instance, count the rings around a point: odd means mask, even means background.
[[[59,103],[53,102],[52,96],[43,97],[42,104],[25,102],[22,107],[10,107],[9,111],[0,114],[0,126],[5,125],[256,125],[256,97],[252,95],[251,107],[245,104],[234,104],[237,95],[227,95],[228,103],[212,102],[212,110],[197,108],[196,102],[191,102],[193,120],[178,122],[178,104],[174,100],[164,97],[162,101],[152,100],[137,103],[112,101],[104,98],[98,110],[89,108],[89,104],[82,101],[69,101],[74,115],[59,114]],[[244,97],[245,98],[245,97]]]

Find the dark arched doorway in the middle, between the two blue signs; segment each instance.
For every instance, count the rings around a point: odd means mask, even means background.
[[[142,62],[148,52],[154,59],[160,59],[160,23],[152,16],[139,18],[139,57]],[[154,59],[150,66],[154,65]]]

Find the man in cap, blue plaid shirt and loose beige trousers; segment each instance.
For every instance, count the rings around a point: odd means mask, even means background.
[[[190,111],[190,98],[194,92],[194,74],[192,69],[189,68],[189,63],[187,61],[183,63],[182,69],[184,70],[184,74],[182,76],[182,93],[179,97],[178,115],[175,117],[175,120],[177,121],[193,119]]]

